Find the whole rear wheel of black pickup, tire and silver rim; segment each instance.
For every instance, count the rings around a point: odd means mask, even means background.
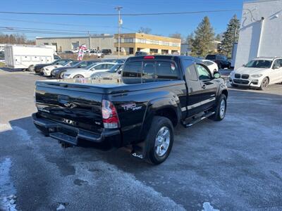
[[[145,140],[147,162],[154,165],[164,162],[171,153],[173,140],[173,124],[171,120],[166,117],[154,117]]]

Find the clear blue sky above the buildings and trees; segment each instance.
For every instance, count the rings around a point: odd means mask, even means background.
[[[122,6],[121,32],[136,32],[140,27],[149,27],[152,34],[168,36],[179,32],[183,37],[195,31],[205,15],[216,34],[224,32],[233,15],[241,18],[243,0],[9,0],[1,1],[1,11],[36,13],[117,13],[116,6]],[[195,13],[185,15],[123,16],[123,13],[165,13],[183,11],[217,11],[216,13]],[[0,13],[1,27],[37,29],[36,33],[25,33],[27,39],[35,37],[67,37],[77,34],[114,34],[118,31],[117,16],[59,16],[19,15]],[[38,30],[54,34],[42,34]],[[1,33],[1,32],[0,32]],[[12,32],[3,32],[10,34]],[[61,34],[55,34],[61,33]]]

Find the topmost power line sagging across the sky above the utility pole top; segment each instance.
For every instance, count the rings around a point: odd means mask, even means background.
[[[199,14],[199,13],[221,13],[230,11],[242,11],[242,9],[226,9],[214,11],[185,11],[185,12],[169,12],[169,13],[123,13],[123,16],[144,16],[144,15],[184,15],[184,14]],[[71,15],[71,16],[118,16],[115,13],[32,13],[32,12],[11,12],[0,11],[5,14],[20,14],[20,15]]]

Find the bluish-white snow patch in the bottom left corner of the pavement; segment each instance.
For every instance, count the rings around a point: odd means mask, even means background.
[[[0,162],[0,210],[16,211],[16,188],[10,176],[11,166],[11,158]]]

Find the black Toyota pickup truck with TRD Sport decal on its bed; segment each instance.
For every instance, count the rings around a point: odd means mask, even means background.
[[[226,114],[226,82],[197,58],[130,57],[121,75],[36,82],[35,126],[65,146],[126,147],[159,164],[178,123],[190,127]]]

